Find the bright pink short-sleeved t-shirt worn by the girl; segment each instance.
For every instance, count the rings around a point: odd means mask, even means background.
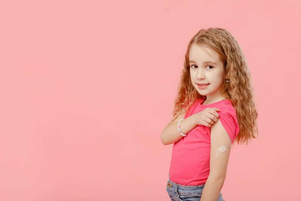
[[[197,99],[188,108],[184,119],[207,107],[219,108],[219,119],[233,144],[239,132],[236,110],[228,99],[201,105],[205,98]],[[169,179],[183,186],[199,186],[206,183],[210,172],[211,128],[198,125],[175,142],[169,167]],[[180,135],[180,133],[179,133]]]

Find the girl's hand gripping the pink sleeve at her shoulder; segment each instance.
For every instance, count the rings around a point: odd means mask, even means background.
[[[210,127],[214,122],[217,122],[217,119],[219,118],[219,112],[220,109],[216,107],[208,107],[204,110],[195,113],[194,116],[194,122],[197,125],[203,125]]]

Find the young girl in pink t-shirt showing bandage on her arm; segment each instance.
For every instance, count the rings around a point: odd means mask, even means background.
[[[233,36],[201,29],[189,42],[173,118],[161,134],[173,144],[171,200],[223,201],[231,145],[256,138],[250,72]]]

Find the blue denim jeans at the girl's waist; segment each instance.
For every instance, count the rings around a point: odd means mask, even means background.
[[[178,183],[167,181],[166,191],[171,201],[200,201],[205,184],[201,186],[182,186]],[[225,201],[222,191],[219,192],[217,201]]]

